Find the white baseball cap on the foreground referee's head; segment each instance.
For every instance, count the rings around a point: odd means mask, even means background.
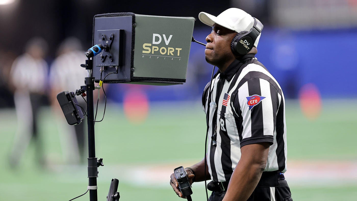
[[[244,10],[238,8],[227,9],[217,17],[206,12],[200,12],[200,14],[198,14],[198,19],[208,26],[213,26],[213,24],[216,23],[237,33],[241,31],[250,31],[254,25],[253,17]],[[258,45],[260,35],[261,34],[259,34],[254,43],[255,47]]]

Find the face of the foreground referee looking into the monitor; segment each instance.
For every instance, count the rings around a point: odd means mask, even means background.
[[[237,33],[221,25],[214,24],[206,37],[206,61],[224,71],[236,58],[231,51],[231,41]]]

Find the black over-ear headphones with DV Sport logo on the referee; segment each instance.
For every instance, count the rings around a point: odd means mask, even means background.
[[[263,29],[263,24],[253,17],[254,25],[250,31],[239,32],[231,42],[231,50],[235,55],[246,55],[252,50],[257,37]]]

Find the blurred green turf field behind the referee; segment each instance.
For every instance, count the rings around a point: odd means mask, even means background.
[[[288,161],[357,164],[356,113],[356,100],[323,101],[320,118],[308,121],[298,104],[288,101]],[[86,191],[87,167],[65,164],[60,132],[49,108],[42,110],[40,121],[49,169],[37,168],[33,162],[33,145],[27,149],[20,166],[10,169],[7,154],[16,131],[16,116],[14,110],[0,110],[3,159],[0,201],[70,200]],[[99,167],[98,200],[106,200],[112,178],[120,180],[120,200],[181,200],[172,191],[169,176],[175,167],[203,158],[205,131],[205,115],[199,103],[153,104],[142,124],[130,123],[121,106],[109,105],[104,121],[96,123],[96,156],[104,158],[105,164]],[[177,137],[185,140],[177,141]],[[324,168],[321,166],[321,170]],[[356,200],[357,197],[355,180],[312,184],[295,180],[290,187],[294,200]],[[193,185],[192,199],[205,199],[203,184]],[[76,200],[89,200],[89,194]]]

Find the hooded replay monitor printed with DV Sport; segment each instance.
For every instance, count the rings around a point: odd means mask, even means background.
[[[104,83],[173,85],[186,82],[193,17],[110,13],[94,16],[93,45],[109,49],[93,57],[93,76]]]

